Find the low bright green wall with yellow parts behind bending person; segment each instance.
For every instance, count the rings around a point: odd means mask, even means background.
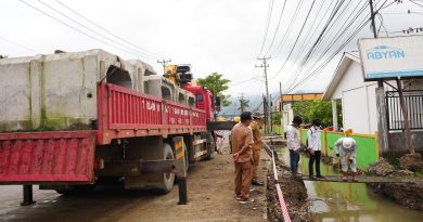
[[[367,170],[369,166],[379,159],[379,147],[375,135],[369,134],[357,134],[350,131],[342,132],[330,132],[322,131],[322,153],[325,156],[335,157],[335,142],[343,136],[352,138],[357,143],[357,167],[361,170]],[[306,144],[307,130],[302,129],[300,132],[302,143]]]

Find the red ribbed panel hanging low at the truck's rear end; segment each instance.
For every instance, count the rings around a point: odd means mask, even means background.
[[[94,182],[95,131],[0,133],[0,184]]]

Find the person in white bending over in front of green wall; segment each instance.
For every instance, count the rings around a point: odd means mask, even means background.
[[[336,157],[341,157],[341,165],[343,171],[343,181],[347,181],[348,175],[348,162],[352,172],[352,181],[356,180],[357,166],[356,166],[356,141],[352,138],[339,138],[335,143]]]

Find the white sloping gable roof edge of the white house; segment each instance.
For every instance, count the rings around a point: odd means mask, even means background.
[[[339,83],[339,80],[343,78],[345,70],[348,68],[351,62],[361,64],[360,54],[358,51],[344,52],[343,57],[341,58],[341,62],[335,69],[335,74],[332,76],[332,79],[326,90],[324,91],[322,100],[331,100],[336,86]]]

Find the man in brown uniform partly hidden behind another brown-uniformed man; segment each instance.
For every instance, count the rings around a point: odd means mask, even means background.
[[[253,180],[252,180],[252,185],[258,185],[262,186],[262,182],[258,180],[257,177],[257,168],[258,164],[260,162],[260,152],[261,152],[261,145],[262,145],[262,140],[261,140],[261,115],[259,113],[255,113],[253,115],[253,121],[249,125],[249,128],[253,131]]]

